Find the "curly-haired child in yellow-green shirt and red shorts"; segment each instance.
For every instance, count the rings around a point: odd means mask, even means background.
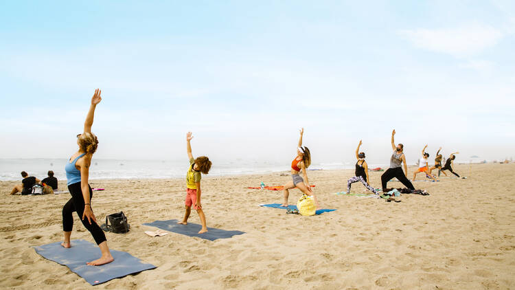
[[[209,158],[205,156],[197,157],[196,159],[193,158],[192,145],[190,144],[192,139],[192,133],[188,132],[186,134],[186,148],[187,157],[190,159],[190,167],[187,169],[186,173],[186,200],[184,202],[186,205],[186,212],[184,213],[183,221],[179,221],[179,224],[187,225],[187,219],[190,217],[193,207],[201,218],[202,223],[202,229],[198,234],[203,234],[207,232],[207,225],[201,204],[201,172],[204,174],[209,173],[209,169],[211,169],[211,161],[209,161]]]

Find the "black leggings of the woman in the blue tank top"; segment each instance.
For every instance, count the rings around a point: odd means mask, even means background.
[[[71,199],[62,207],[62,230],[65,232],[71,232],[73,229],[73,212],[77,212],[79,219],[82,221],[82,225],[91,232],[97,245],[106,241],[106,235],[100,229],[100,227],[94,221],[91,224],[87,217],[82,220],[82,214],[84,213],[84,197],[82,196],[82,189],[80,188],[80,182],[70,184],[68,190],[71,194]],[[93,198],[93,190],[89,186],[89,199]]]

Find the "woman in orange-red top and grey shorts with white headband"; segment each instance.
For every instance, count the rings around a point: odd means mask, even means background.
[[[311,190],[310,183],[308,181],[308,172],[306,170],[311,164],[311,154],[308,147],[302,147],[302,135],[304,135],[304,128],[300,130],[300,139],[297,146],[297,157],[295,157],[291,163],[291,177],[293,180],[284,185],[284,202],[281,206],[288,206],[288,197],[290,196],[289,190],[292,188],[297,188],[304,194],[313,197],[314,203],[317,205],[318,210],[320,205],[317,197],[314,196]],[[302,179],[302,177],[299,175],[301,171],[302,175],[304,175],[304,179]]]

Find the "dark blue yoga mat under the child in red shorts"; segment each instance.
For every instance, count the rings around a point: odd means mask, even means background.
[[[161,230],[183,234],[185,236],[196,236],[197,238],[203,238],[209,241],[214,241],[218,238],[231,238],[232,236],[245,233],[240,231],[226,231],[215,229],[214,227],[207,227],[207,232],[204,234],[198,234],[198,231],[202,229],[202,225],[198,225],[196,223],[178,225],[177,222],[178,221],[176,219],[170,219],[168,221],[152,221],[152,223],[144,223],[144,225],[159,227]]]

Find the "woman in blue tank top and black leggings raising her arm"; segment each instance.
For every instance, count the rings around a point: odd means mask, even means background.
[[[93,191],[88,184],[91,157],[98,146],[98,139],[91,133],[91,126],[93,125],[95,108],[102,100],[100,93],[100,89],[96,89],[93,98],[91,98],[91,106],[84,122],[84,133],[77,135],[79,150],[71,156],[65,166],[71,199],[62,208],[62,230],[65,232],[65,241],[61,243],[62,247],[71,247],[70,236],[73,228],[73,212],[77,212],[82,224],[91,232],[102,252],[100,258],[87,263],[93,266],[104,265],[114,260],[107,246],[106,235],[98,226],[95,214],[93,214],[91,209]]]

